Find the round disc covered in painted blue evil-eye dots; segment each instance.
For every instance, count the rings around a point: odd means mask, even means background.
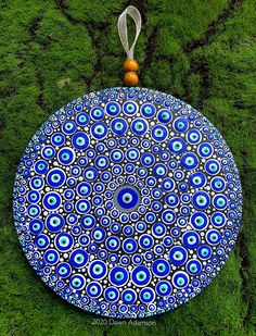
[[[219,273],[242,190],[229,147],[202,113],[118,87],[72,101],[37,130],[13,210],[29,263],[56,294],[104,316],[145,318]]]

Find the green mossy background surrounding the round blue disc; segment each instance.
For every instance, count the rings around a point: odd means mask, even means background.
[[[142,14],[140,86],[184,100],[215,124],[234,154],[244,196],[240,238],[220,275],[189,303],[146,320],[152,326],[105,325],[59,298],[26,261],[12,219],[15,171],[36,129],[66,102],[123,85],[116,23],[129,4]],[[0,335],[255,335],[255,5],[0,1]]]

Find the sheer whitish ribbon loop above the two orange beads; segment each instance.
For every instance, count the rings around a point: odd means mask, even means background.
[[[129,49],[129,41],[128,41],[127,21],[126,21],[127,15],[130,15],[136,24],[136,38],[130,49]],[[137,10],[137,8],[135,8],[133,5],[129,5],[120,14],[117,26],[118,26],[118,34],[119,34],[120,42],[127,53],[127,59],[133,60],[136,42],[138,40],[140,30],[141,30],[141,15],[140,15],[140,12]]]

